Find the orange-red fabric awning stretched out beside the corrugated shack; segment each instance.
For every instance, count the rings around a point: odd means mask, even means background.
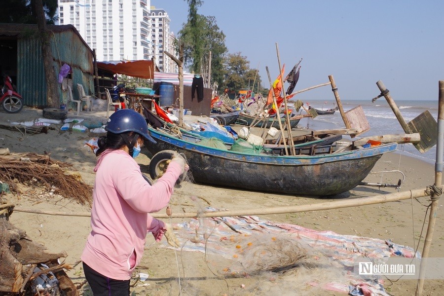
[[[97,68],[112,74],[125,74],[145,79],[154,78],[154,64],[150,60],[97,62]]]

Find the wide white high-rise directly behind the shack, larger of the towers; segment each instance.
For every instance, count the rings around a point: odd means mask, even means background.
[[[59,0],[59,24],[72,24],[98,61],[153,55],[150,0]]]

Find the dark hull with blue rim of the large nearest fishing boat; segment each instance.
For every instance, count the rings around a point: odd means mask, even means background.
[[[336,195],[354,188],[383,153],[397,148],[394,143],[314,156],[258,155],[205,147],[151,127],[149,131],[157,142],[147,145],[149,152],[184,153],[197,183],[310,196]],[[150,163],[150,172],[157,165]]]

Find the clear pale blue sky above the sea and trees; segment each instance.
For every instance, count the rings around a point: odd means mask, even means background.
[[[151,5],[168,12],[175,34],[186,22],[185,0]],[[265,87],[265,66],[272,79],[279,74],[278,43],[286,73],[303,58],[295,90],[328,82],[332,74],[343,100],[370,100],[382,80],[398,101],[438,100],[443,11],[441,0],[204,0],[198,13],[216,17],[229,53],[241,52],[251,68],[259,66]],[[328,86],[300,96],[334,99]]]

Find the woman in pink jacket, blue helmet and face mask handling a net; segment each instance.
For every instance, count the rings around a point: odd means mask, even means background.
[[[145,118],[122,109],[110,116],[105,129],[107,135],[99,138],[96,152],[91,233],[81,259],[94,296],[128,296],[147,232],[156,241],[165,235],[168,243],[179,246],[170,227],[148,213],[167,206],[176,180],[185,172],[185,161],[175,155],[165,174],[149,185],[133,159],[144,139],[156,143]]]

